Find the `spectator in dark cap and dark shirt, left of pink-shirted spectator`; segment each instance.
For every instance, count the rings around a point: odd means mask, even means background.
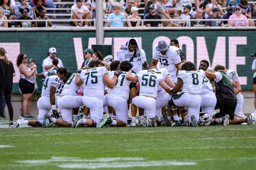
[[[218,20],[221,19],[220,17],[220,8],[214,7],[212,10],[213,14],[209,14],[206,19],[216,19],[214,21],[205,21],[206,27],[224,27],[223,21]]]

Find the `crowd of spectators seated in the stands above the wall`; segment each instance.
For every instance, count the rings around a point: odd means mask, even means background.
[[[53,0],[0,0],[3,14],[0,19],[17,19],[21,22],[1,22],[0,27],[51,27],[51,22],[24,21],[49,19],[47,8],[55,8]],[[202,26],[255,26],[252,18],[252,11],[256,11],[256,3],[248,3],[248,0],[108,0],[103,1],[103,18],[108,19],[105,27],[185,27],[199,24]],[[15,5],[16,4],[16,5]],[[46,8],[47,7],[47,8]],[[60,6],[57,6],[59,8]],[[142,12],[142,10],[144,10]],[[69,10],[66,10],[69,12]],[[1,8],[0,8],[1,12]],[[56,18],[54,10],[52,19]],[[95,26],[85,19],[96,19],[95,0],[74,0],[70,10],[70,19],[81,21],[71,21],[71,26],[88,27]],[[143,17],[142,17],[143,16]],[[137,21],[140,19],[155,19],[157,21]],[[119,21],[110,21],[118,19]],[[134,21],[132,20],[134,19]],[[170,19],[170,21],[161,20]],[[172,20],[174,19],[174,20]],[[178,19],[183,19],[179,21]],[[190,19],[200,19],[190,21]],[[206,20],[201,20],[206,19]],[[211,19],[211,20],[209,20]],[[214,21],[213,21],[214,19]],[[220,19],[227,19],[221,21]],[[240,19],[237,21],[228,19]],[[244,20],[243,20],[244,19]],[[127,21],[128,20],[128,21]],[[215,21],[216,20],[216,21]]]

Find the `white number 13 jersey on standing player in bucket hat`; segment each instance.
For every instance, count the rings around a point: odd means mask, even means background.
[[[180,49],[175,46],[170,46],[166,54],[163,55],[154,48],[153,58],[159,61],[159,68],[166,68],[169,73],[176,72],[177,68],[175,64],[181,62]]]

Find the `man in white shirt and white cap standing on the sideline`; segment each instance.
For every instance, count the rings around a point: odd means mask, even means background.
[[[54,67],[53,67],[52,61],[54,58],[57,58],[56,54],[57,54],[56,48],[54,48],[54,47],[49,48],[48,53],[47,53],[48,57],[45,58],[42,63],[43,73],[53,70]],[[57,59],[59,60],[58,67],[63,67],[61,59],[59,59],[59,58],[57,58]]]

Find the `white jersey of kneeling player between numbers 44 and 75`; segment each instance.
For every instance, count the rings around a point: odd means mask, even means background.
[[[67,80],[61,95],[73,95],[76,96],[79,86],[76,85],[76,73],[73,73]]]

